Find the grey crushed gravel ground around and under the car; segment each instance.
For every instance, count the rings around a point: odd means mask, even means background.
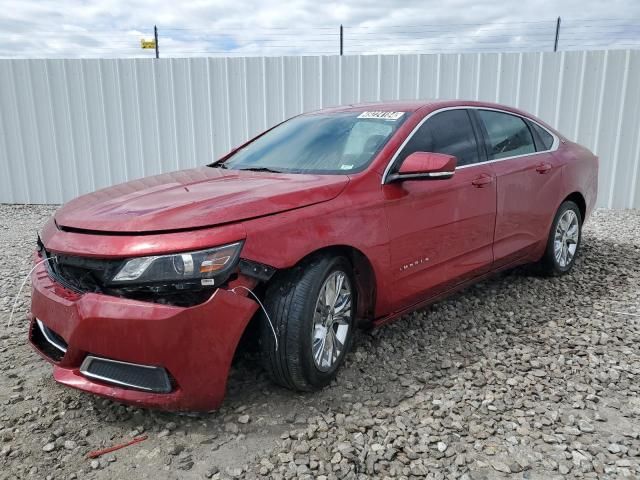
[[[6,327],[53,211],[0,206],[0,478],[640,477],[640,211],[596,212],[568,276],[507,272],[360,333],[322,392],[244,353],[200,415],[55,384],[26,344],[28,292]]]

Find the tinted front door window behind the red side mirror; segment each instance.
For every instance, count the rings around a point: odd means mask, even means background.
[[[398,155],[398,163],[414,152],[446,153],[458,158],[458,166],[478,162],[476,137],[466,110],[435,114],[416,131]]]

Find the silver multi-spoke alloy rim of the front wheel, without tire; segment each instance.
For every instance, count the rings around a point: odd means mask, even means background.
[[[311,349],[318,370],[327,372],[345,349],[351,328],[352,291],[344,272],[332,272],[322,284],[313,312]]]

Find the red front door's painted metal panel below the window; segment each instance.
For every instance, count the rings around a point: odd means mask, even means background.
[[[474,186],[477,178],[491,181]],[[457,170],[449,180],[405,181],[385,190],[396,309],[489,270],[496,182],[488,166]]]

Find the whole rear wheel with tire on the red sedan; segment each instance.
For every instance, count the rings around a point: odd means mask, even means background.
[[[571,200],[560,205],[551,225],[547,247],[540,261],[542,273],[564,275],[575,263],[582,240],[582,215]]]

